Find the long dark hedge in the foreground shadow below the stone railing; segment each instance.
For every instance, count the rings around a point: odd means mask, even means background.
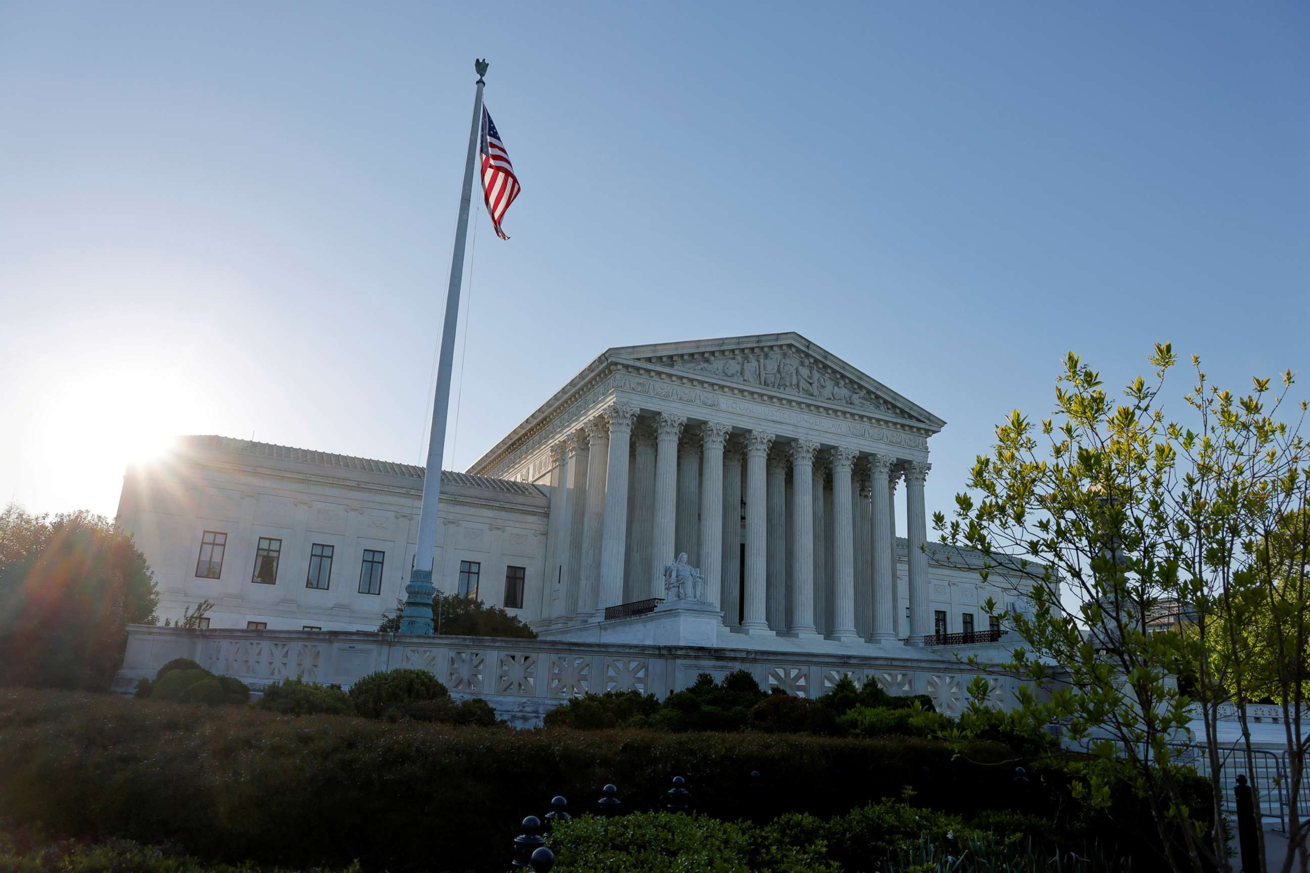
[[[614,783],[625,809],[648,810],[675,775],[697,810],[723,819],[829,817],[907,785],[916,802],[968,817],[1006,804],[1007,755],[973,743],[955,758],[913,738],[511,732],[0,691],[0,815],[291,866],[499,869],[517,822],[553,794],[580,813]]]

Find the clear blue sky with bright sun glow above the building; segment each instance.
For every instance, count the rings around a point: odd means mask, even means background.
[[[1306,368],[1305,4],[0,0],[0,501],[419,461],[476,56],[523,195],[448,467],[608,346],[804,334],[948,421],[930,509],[1066,349]]]

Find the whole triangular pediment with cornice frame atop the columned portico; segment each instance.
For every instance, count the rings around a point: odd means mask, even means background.
[[[871,416],[914,421],[934,432],[945,424],[799,334],[633,346],[612,348],[607,355]]]

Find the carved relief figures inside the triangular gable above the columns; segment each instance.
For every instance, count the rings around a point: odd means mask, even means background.
[[[690,360],[671,359],[660,363],[690,373],[705,373],[732,382],[758,385],[773,391],[799,394],[824,403],[852,406],[858,410],[886,412],[908,419],[916,418],[876,397],[859,383],[833,373],[808,355],[766,351]]]

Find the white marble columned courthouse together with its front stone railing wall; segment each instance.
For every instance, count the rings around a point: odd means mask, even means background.
[[[214,607],[204,630],[132,628],[121,682],[178,654],[253,686],[417,666],[532,722],[588,691],[744,668],[793,694],[849,674],[958,712],[973,671],[955,653],[1005,648],[981,603],[1022,609],[1026,584],[1003,568],[984,584],[980,556],[927,542],[943,425],[798,334],[605,351],[441,474],[434,584],[536,640],[376,632],[409,579],[422,467],[185,437],[128,470],[119,524],[161,616]],[[679,599],[664,568],[683,552],[703,593]]]

